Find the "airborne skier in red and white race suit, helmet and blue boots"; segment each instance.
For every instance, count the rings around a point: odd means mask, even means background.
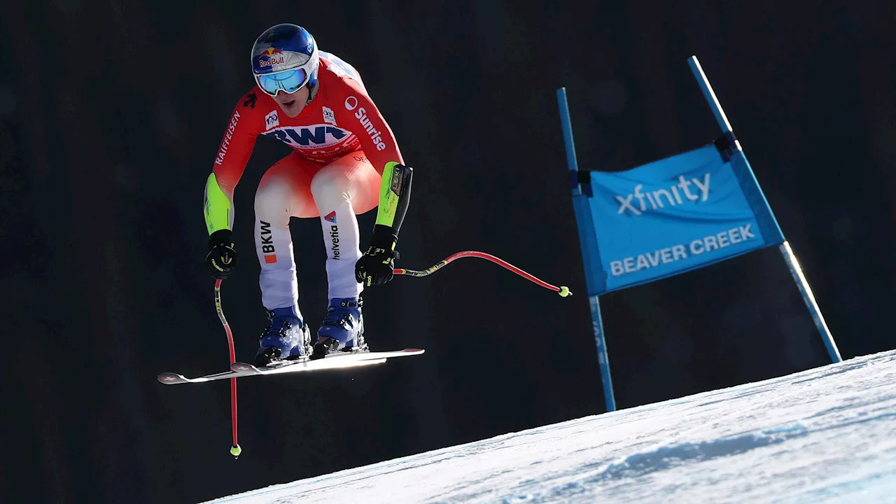
[[[252,48],[252,71],[256,85],[237,101],[205,187],[205,262],[215,278],[231,274],[234,189],[258,135],[286,143],[293,152],[265,172],[255,192],[255,254],[269,318],[255,363],[364,350],[362,291],[392,280],[412,170],[358,71],[317,48],[304,28],[265,30]],[[374,208],[362,255],[356,214]],[[330,301],[314,338],[298,308],[291,217],[318,217],[323,227]],[[310,247],[304,238],[299,243]]]

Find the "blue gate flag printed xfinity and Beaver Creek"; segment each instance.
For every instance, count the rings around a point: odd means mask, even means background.
[[[602,270],[593,294],[784,242],[739,150],[710,144],[622,172],[592,171],[590,186]]]

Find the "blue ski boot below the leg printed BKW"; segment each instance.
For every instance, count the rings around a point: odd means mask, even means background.
[[[255,353],[255,366],[267,366],[276,361],[293,361],[310,355],[311,334],[308,326],[297,315],[295,306],[268,311],[264,329]]]

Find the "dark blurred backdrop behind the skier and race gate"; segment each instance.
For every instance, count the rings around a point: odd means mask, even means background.
[[[399,248],[366,295],[372,369],[164,387],[226,369],[202,267],[202,189],[249,49],[279,22],[355,65],[416,169]],[[3,502],[194,502],[605,411],[555,91],[582,168],[718,133],[696,55],[845,359],[896,347],[896,7],[889,1],[0,4]],[[237,357],[265,324],[252,202],[224,282]],[[361,219],[366,244],[373,213]],[[294,221],[301,306],[325,309],[317,220]],[[828,362],[775,248],[602,298],[620,408]]]

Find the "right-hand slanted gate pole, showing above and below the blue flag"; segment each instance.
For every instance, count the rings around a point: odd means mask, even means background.
[[[716,98],[716,93],[712,91],[712,86],[710,85],[710,81],[706,78],[706,74],[703,74],[703,69],[700,66],[700,62],[697,61],[697,56],[691,56],[687,60],[687,63],[691,65],[691,72],[694,73],[694,78],[696,78],[697,83],[700,84],[700,89],[703,91],[703,97],[705,97],[707,103],[710,104],[712,114],[716,117],[716,122],[719,123],[722,133],[725,134],[732,131],[731,124],[728,122],[728,117],[726,117],[725,112],[722,111],[719,99]],[[738,151],[743,151],[740,143],[737,141],[735,141],[734,147]],[[800,294],[803,295],[803,301],[806,302],[806,308],[809,308],[809,313],[812,314],[815,326],[818,327],[818,332],[822,335],[824,347],[827,349],[828,355],[831,356],[831,361],[843,361],[840,357],[840,350],[837,348],[837,343],[834,343],[831,331],[828,329],[828,325],[824,322],[822,310],[821,308],[818,308],[818,303],[815,302],[815,296],[812,293],[812,288],[809,287],[806,275],[803,274],[803,270],[799,267],[797,256],[793,253],[793,249],[790,248],[790,244],[787,240],[784,240],[784,243],[780,245],[779,249],[781,256],[784,256],[784,260],[787,262],[794,282],[797,282]]]

